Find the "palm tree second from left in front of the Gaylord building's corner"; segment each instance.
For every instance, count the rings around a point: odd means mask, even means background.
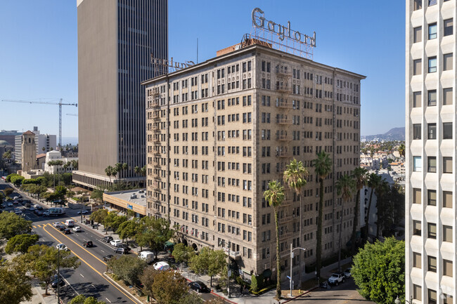
[[[302,208],[302,188],[307,185],[307,176],[308,176],[308,170],[303,166],[302,161],[297,161],[297,159],[293,159],[290,161],[290,164],[285,165],[285,171],[283,173],[283,180],[284,183],[288,184],[289,187],[293,190],[295,190],[295,193],[298,195],[300,198],[300,236],[302,235],[302,214],[303,214],[303,208]],[[297,244],[297,246],[300,246]],[[290,265],[292,267],[292,265]],[[302,282],[302,263],[300,263],[300,285]]]

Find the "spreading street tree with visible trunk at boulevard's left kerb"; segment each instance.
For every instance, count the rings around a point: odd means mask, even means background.
[[[70,251],[58,252],[56,248],[46,245],[31,246],[20,257],[29,263],[32,275],[46,283],[46,294],[51,278],[56,274],[58,259],[60,268],[77,268],[80,265],[79,258],[70,256]]]

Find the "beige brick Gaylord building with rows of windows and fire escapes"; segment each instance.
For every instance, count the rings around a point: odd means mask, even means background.
[[[334,185],[359,166],[365,77],[260,44],[218,54],[143,82],[148,216],[169,216],[189,246],[224,249],[244,275],[274,272],[274,215],[263,193],[296,158],[310,176],[302,208],[288,190],[279,211],[281,263],[290,267],[290,244],[305,247],[295,252],[294,276],[301,262],[314,273],[319,186],[311,161],[321,151],[333,160],[325,180],[326,258],[337,252],[339,230],[343,248],[352,232],[355,202],[342,210]]]

